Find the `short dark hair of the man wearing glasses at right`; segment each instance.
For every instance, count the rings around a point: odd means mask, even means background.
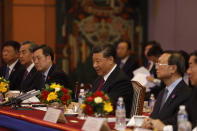
[[[176,65],[177,72],[183,76],[185,73],[185,59],[179,52],[169,53],[171,54],[168,58],[168,65]]]

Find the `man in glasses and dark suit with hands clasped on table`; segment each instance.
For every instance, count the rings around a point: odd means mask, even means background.
[[[184,58],[180,53],[163,53],[156,64],[157,76],[166,85],[155,103],[152,119],[159,119],[165,124],[176,124],[180,105],[185,105],[191,95],[191,89],[183,81],[185,72]],[[151,126],[151,119],[144,122],[144,127]]]

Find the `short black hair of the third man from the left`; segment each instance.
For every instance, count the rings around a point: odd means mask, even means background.
[[[37,50],[39,50],[39,49],[42,49],[43,54],[44,54],[45,56],[51,56],[51,60],[52,60],[52,61],[54,60],[54,52],[53,52],[53,50],[51,49],[51,47],[49,47],[49,46],[46,45],[46,44],[43,44],[43,45],[40,45],[40,46],[38,46],[37,48],[35,48],[35,49],[33,50],[33,52],[35,52],[35,51],[37,51]]]

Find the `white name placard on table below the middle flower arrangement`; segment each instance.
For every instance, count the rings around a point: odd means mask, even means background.
[[[67,123],[66,118],[64,117],[62,111],[51,107],[48,108],[43,120],[53,123],[57,123],[57,122]]]

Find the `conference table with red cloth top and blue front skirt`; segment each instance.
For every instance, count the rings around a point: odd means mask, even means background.
[[[15,110],[10,106],[0,106],[0,130],[1,131],[82,131],[84,120],[74,116],[66,116],[67,123],[52,123],[44,121],[45,111],[25,108]],[[114,128],[114,123],[108,123]]]

